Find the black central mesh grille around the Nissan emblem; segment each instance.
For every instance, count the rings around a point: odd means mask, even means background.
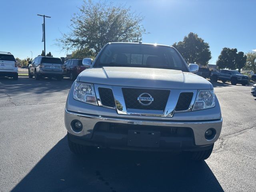
[[[138,88],[122,88],[126,109],[141,110],[162,110],[164,111],[170,90],[159,89],[138,89]],[[142,93],[148,93],[154,98],[154,101],[144,106],[138,102],[138,97]]]

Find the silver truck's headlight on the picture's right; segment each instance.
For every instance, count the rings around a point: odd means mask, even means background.
[[[214,90],[198,90],[193,110],[207,109],[215,106]]]

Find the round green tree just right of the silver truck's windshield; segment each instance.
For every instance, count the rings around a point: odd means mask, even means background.
[[[204,42],[202,38],[199,38],[198,34],[192,32],[185,36],[183,41],[174,43],[172,46],[180,52],[188,63],[196,62],[206,66],[212,58],[209,44]]]

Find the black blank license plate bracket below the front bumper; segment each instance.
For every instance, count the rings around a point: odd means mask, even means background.
[[[128,146],[159,147],[160,132],[128,130]]]

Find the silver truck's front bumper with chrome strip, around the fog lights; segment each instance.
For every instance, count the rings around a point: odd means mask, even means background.
[[[132,117],[130,117],[132,118]],[[65,126],[69,134],[80,137],[84,140],[84,144],[98,144],[99,146],[111,144],[114,147],[127,147],[127,135],[109,132],[96,132],[95,127],[99,122],[107,122],[113,124],[140,125],[140,126],[156,126],[165,128],[188,128],[192,130],[192,137],[160,137],[159,148],[176,148],[180,150],[190,150],[190,148],[205,147],[213,144],[220,136],[222,128],[222,118],[219,120],[204,121],[169,121],[169,120],[149,120],[149,119],[130,119],[116,118],[92,114],[84,114],[72,112],[65,109]],[[79,120],[83,124],[81,132],[74,132],[71,127],[73,120]],[[206,140],[204,134],[209,128],[216,130],[216,135],[212,140]]]

